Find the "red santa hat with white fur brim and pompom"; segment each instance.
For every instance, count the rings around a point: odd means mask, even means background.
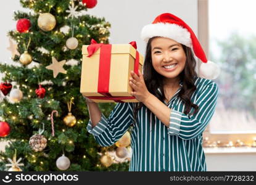
[[[142,28],[141,38],[148,41],[154,36],[170,38],[185,46],[191,47],[194,54],[202,61],[199,75],[207,79],[215,79],[220,75],[220,67],[207,60],[204,50],[192,29],[175,15],[165,13],[157,16],[154,22]]]

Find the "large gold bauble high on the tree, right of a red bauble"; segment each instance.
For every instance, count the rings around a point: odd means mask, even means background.
[[[38,27],[43,31],[51,31],[56,26],[56,19],[50,13],[40,14],[38,17]]]

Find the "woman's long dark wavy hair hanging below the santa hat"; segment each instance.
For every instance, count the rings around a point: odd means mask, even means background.
[[[160,101],[164,101],[165,95],[164,93],[160,93],[157,89],[159,88],[161,92],[163,92],[163,76],[157,73],[152,65],[152,57],[151,57],[151,42],[152,39],[149,39],[146,47],[146,56],[143,65],[143,76],[144,81],[147,86],[147,90],[151,92],[154,96],[156,96]],[[183,86],[181,91],[178,93],[178,97],[184,102],[185,109],[184,113],[188,115],[191,111],[192,107],[194,108],[193,114],[196,114],[199,107],[196,104],[191,102],[191,96],[194,91],[196,91],[195,77],[197,76],[195,68],[196,68],[196,59],[194,59],[191,48],[184,46],[181,44],[186,54],[186,64],[184,66],[184,70],[180,73],[180,80],[183,82]],[[137,119],[138,110],[143,106],[142,102],[135,103],[133,113],[134,113],[134,121]],[[151,114],[151,110],[148,109],[148,113]],[[152,113],[153,114],[153,113]],[[152,119],[154,122],[154,119]]]

